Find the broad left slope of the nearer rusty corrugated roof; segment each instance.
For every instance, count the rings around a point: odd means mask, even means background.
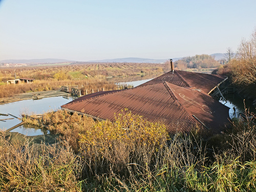
[[[177,99],[172,97],[164,83],[120,90],[78,102],[71,101],[61,108],[111,121],[115,113],[121,113],[126,108],[149,121],[163,122],[167,131],[172,133],[188,132],[196,123]]]

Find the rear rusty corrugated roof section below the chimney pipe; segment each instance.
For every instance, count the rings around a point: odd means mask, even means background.
[[[145,82],[140,86],[166,81],[179,87],[196,87],[203,90],[205,93],[209,93],[225,79],[226,77],[221,75],[175,70],[174,72],[165,73],[155,79]]]

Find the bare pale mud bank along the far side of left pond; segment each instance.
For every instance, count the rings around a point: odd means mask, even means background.
[[[18,94],[12,97],[1,98],[0,104],[21,101],[26,99],[42,99],[46,97],[57,97],[57,96],[67,96],[67,95],[70,95],[70,94],[59,91],[59,90],[29,92],[29,93]]]

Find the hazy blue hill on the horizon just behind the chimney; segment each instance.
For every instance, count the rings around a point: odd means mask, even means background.
[[[182,58],[182,57],[181,57]],[[181,58],[173,58],[174,61]],[[90,60],[88,62],[140,62],[140,63],[164,63],[168,59],[147,59],[147,58],[137,58],[137,57],[127,57],[118,59],[103,59],[103,60]]]

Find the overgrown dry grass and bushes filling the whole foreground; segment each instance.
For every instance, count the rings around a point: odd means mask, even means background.
[[[0,188],[255,191],[256,116],[246,116],[246,121],[235,119],[231,130],[214,136],[203,127],[168,136],[163,124],[127,110],[116,115],[115,122],[94,122],[65,111],[44,114],[39,121],[26,119],[60,133],[62,139],[42,144],[38,151],[30,143],[20,147],[1,136]]]

